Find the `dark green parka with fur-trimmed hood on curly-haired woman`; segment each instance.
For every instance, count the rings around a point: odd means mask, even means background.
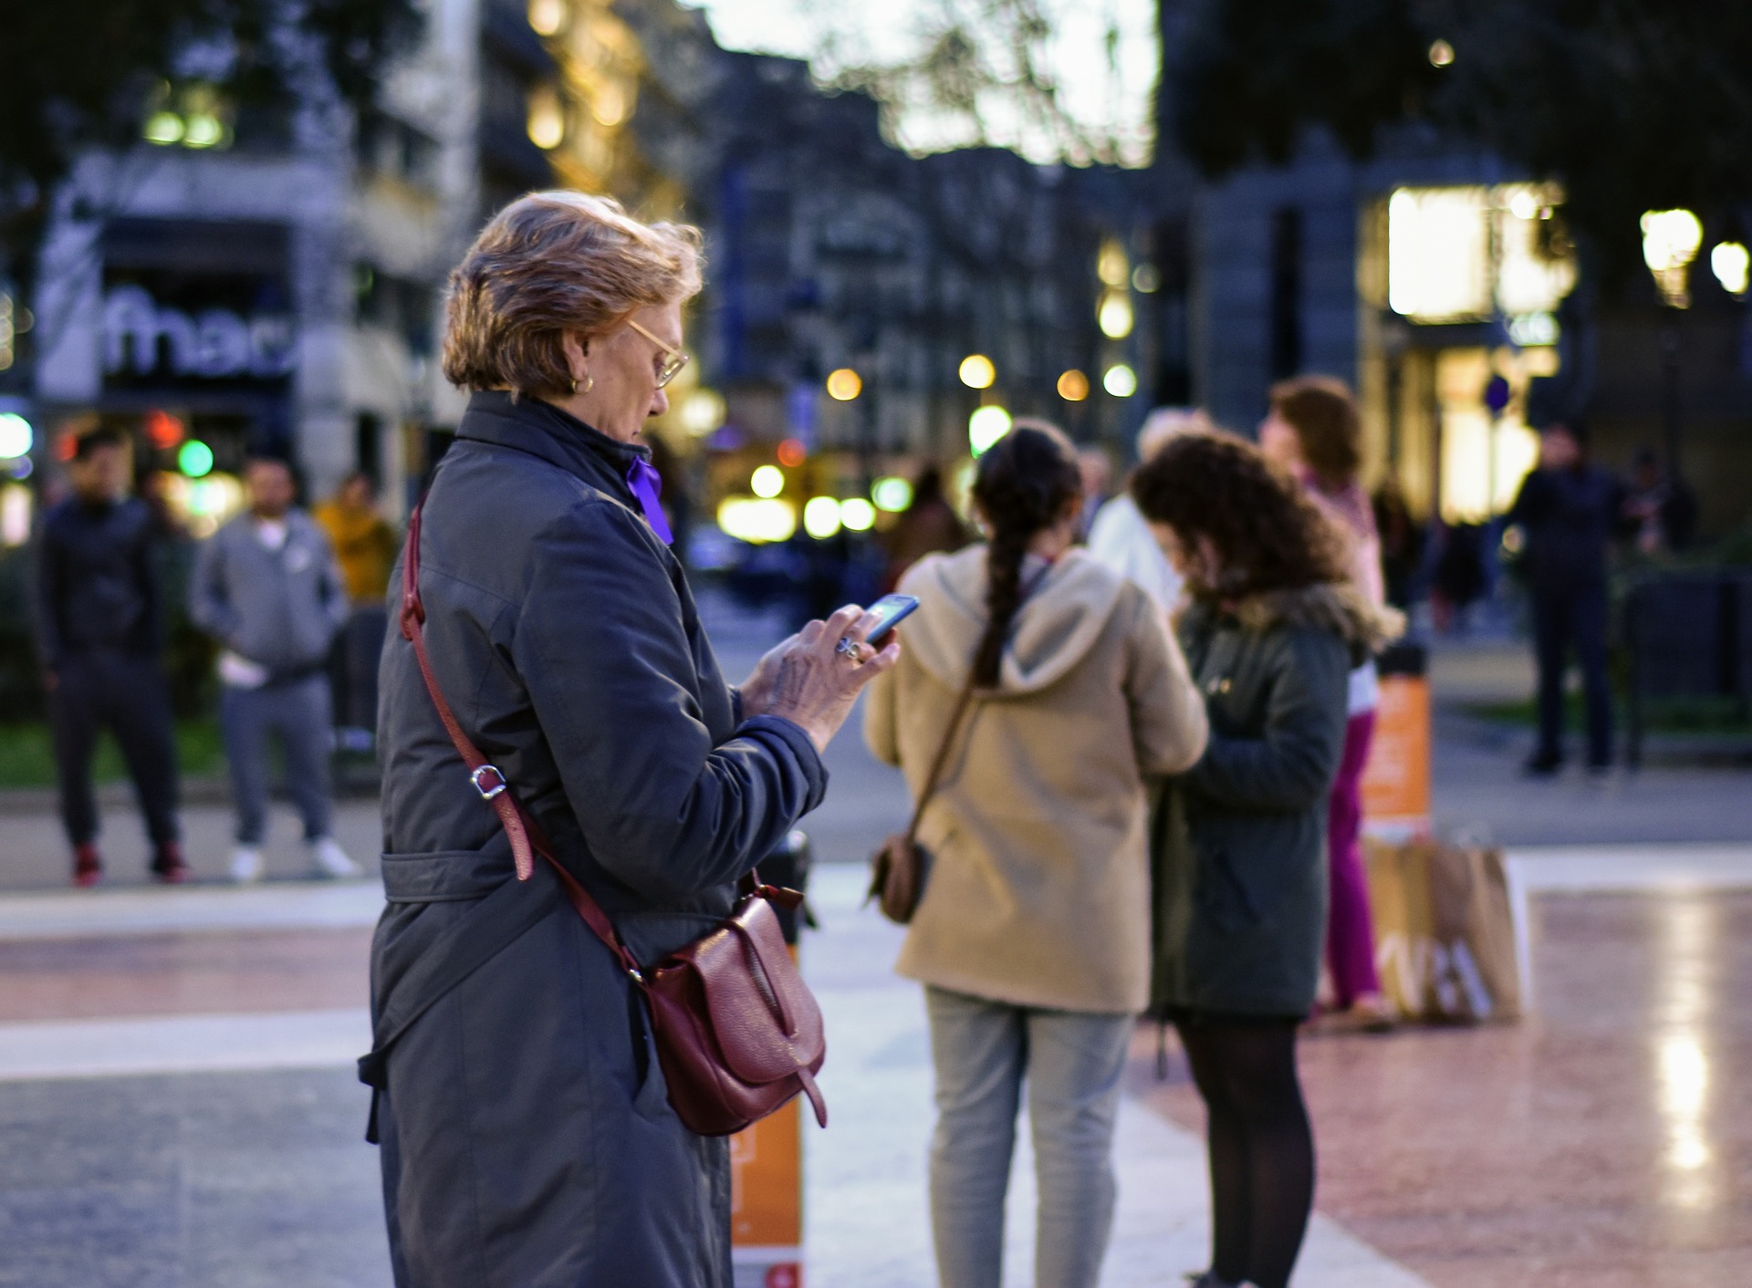
[[[1347,676],[1388,631],[1340,585],[1181,615],[1211,741],[1167,782],[1156,818],[1153,1011],[1303,1016],[1314,1006]]]

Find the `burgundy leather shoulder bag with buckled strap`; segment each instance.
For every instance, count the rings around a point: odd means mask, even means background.
[[[401,564],[401,636],[413,645],[426,692],[468,766],[470,782],[499,815],[517,880],[534,874],[534,855],[547,860],[573,909],[643,992],[676,1116],[701,1136],[731,1136],[802,1093],[815,1108],[815,1120],[827,1127],[827,1102],[815,1085],[827,1057],[822,1008],[797,973],[773,911],[774,902],[795,908],[802,895],[760,885],[752,874],[736,908],[710,934],[643,967],[603,906],[554,857],[552,845],[517,804],[505,775],[463,732],[438,689],[426,654],[419,552],[420,512],[415,508]]]

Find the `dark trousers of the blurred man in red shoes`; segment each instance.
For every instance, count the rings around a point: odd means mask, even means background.
[[[61,659],[49,694],[61,824],[79,846],[96,839],[91,755],[98,734],[116,734],[154,846],[177,839],[177,740],[170,685],[158,659],[93,648]]]

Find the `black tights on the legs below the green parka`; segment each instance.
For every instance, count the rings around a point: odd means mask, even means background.
[[[1177,1020],[1205,1102],[1211,1269],[1284,1288],[1314,1207],[1314,1130],[1296,1081],[1293,1020]]]

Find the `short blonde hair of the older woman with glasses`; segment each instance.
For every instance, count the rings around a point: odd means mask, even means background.
[[[643,224],[587,193],[529,193],[450,270],[443,373],[461,389],[571,391],[562,336],[604,335],[636,308],[699,293],[701,235]]]

